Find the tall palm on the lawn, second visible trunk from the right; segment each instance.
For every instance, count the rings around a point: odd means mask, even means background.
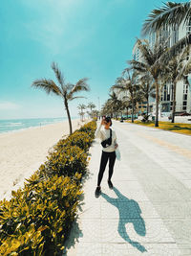
[[[138,39],[138,49],[141,52],[142,61],[137,61],[135,59],[128,61],[134,70],[143,75],[149,73],[154,80],[156,88],[156,119],[155,127],[159,127],[159,87],[163,74],[163,61],[167,47],[165,43],[159,43],[156,41],[154,47],[151,47],[147,40],[141,41]]]

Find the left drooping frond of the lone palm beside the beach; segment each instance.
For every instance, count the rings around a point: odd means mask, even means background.
[[[54,93],[56,95],[62,96],[62,92],[60,88],[54,83],[53,80],[35,80],[32,82],[32,87],[42,88],[46,91],[46,93]]]

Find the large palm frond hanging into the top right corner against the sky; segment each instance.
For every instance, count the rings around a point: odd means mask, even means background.
[[[172,25],[186,21],[191,14],[190,3],[167,2],[164,6],[153,10],[145,20],[142,27],[142,35],[155,33],[161,30],[164,25]]]

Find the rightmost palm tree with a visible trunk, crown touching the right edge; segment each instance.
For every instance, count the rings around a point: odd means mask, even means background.
[[[187,81],[187,75],[191,71],[190,60],[187,61],[189,56],[189,46],[184,49],[180,56],[172,58],[167,65],[165,65],[167,82],[173,82],[173,109],[172,109],[172,123],[175,123],[175,112],[176,112],[176,95],[177,95],[177,82]]]

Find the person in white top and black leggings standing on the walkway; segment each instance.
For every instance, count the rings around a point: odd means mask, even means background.
[[[104,129],[101,129],[102,126],[104,126]],[[99,127],[96,129],[96,138],[99,138],[101,140],[101,146],[102,146],[101,161],[100,161],[100,167],[99,167],[99,173],[98,173],[98,179],[97,179],[97,187],[95,192],[96,198],[98,198],[101,194],[100,184],[101,184],[101,180],[105,172],[105,168],[108,160],[109,160],[108,185],[110,189],[113,189],[111,178],[114,173],[114,165],[116,161],[116,149],[118,145],[117,145],[116,132],[115,130],[110,128],[111,126],[112,126],[111,118],[103,116]]]

